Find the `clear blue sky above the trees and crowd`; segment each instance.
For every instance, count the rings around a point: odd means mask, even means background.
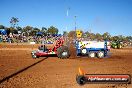
[[[17,17],[21,27],[53,25],[63,33],[74,30],[76,15],[77,29],[132,36],[132,0],[0,0],[0,4],[0,24],[7,27],[11,17]]]

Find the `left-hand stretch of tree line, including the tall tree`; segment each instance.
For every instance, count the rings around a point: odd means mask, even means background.
[[[20,27],[18,25],[19,19],[16,17],[12,17],[10,20],[10,27],[5,27],[4,25],[0,25],[0,29],[5,29],[8,31],[7,34],[9,33],[24,33],[26,36],[35,36],[36,33],[41,32],[42,35],[48,35],[48,34],[58,34],[58,28],[54,26],[50,26],[49,28],[42,27],[42,28],[37,28],[37,27],[32,27],[32,26],[25,26],[25,27]]]

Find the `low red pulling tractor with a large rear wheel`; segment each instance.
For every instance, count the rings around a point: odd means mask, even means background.
[[[64,40],[59,38],[53,49],[48,49],[45,45],[41,45],[38,50],[32,51],[33,58],[58,56],[58,58],[65,59],[70,57],[70,52],[67,46],[63,45]]]

